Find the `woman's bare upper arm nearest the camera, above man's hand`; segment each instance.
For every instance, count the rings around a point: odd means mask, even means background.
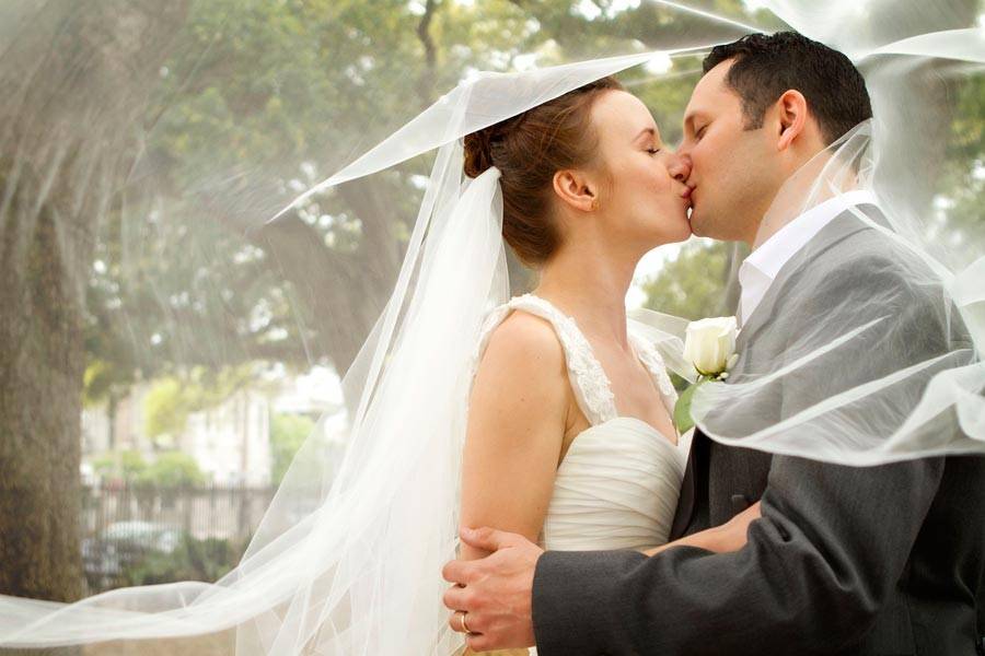
[[[490,526],[537,540],[554,488],[569,389],[564,352],[548,324],[514,313],[496,329],[468,406],[462,526]],[[459,558],[484,555],[463,544]]]

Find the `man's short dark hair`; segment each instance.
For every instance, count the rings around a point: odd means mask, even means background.
[[[826,144],[872,117],[866,81],[851,60],[802,34],[749,34],[715,46],[704,71],[730,59],[726,82],[742,98],[746,130],[762,128],[766,109],[790,89],[807,98]]]

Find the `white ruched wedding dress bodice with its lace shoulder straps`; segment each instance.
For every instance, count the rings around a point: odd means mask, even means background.
[[[575,551],[665,543],[690,434],[675,445],[650,424],[618,417],[609,378],[575,319],[537,296],[518,296],[490,314],[479,355],[496,327],[513,311],[534,314],[554,326],[575,398],[591,423],[575,437],[557,468],[542,546]],[[663,360],[645,340],[630,335],[630,341],[650,372],[660,400],[672,412],[676,393]]]

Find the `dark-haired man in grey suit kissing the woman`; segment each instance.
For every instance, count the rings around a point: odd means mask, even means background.
[[[734,378],[756,368],[751,361],[776,362],[779,336],[806,328],[792,298],[837,293],[828,289],[837,284],[876,294],[894,280],[853,276],[856,263],[884,258],[885,245],[874,231],[838,221],[850,211],[844,202],[818,206],[756,243],[783,183],[871,117],[850,61],[780,33],[716,47],[704,70],[680,150],[693,166],[692,226],[755,246],[740,271]],[[784,265],[807,250],[816,255],[790,278]],[[939,327],[920,324],[925,301],[914,295],[902,313],[909,318],[895,318],[914,321],[924,349],[917,361],[943,342]],[[860,320],[866,312],[860,305]],[[544,552],[517,535],[463,530],[466,542],[494,553],[449,563],[444,577],[456,585],[444,602],[467,612],[475,651],[536,643],[541,656],[985,654],[985,458],[851,468],[723,446],[698,432],[671,537],[723,524],[757,501],[762,518],[731,553]]]

